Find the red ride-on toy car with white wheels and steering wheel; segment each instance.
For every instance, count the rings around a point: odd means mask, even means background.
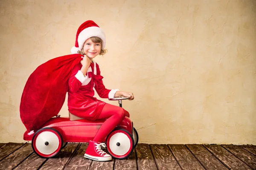
[[[119,97],[109,100],[118,100],[122,107],[122,100],[128,97]],[[89,142],[93,140],[99,128],[106,119],[89,121],[69,114],[69,118],[60,115],[49,119],[34,135],[26,131],[23,139],[32,141],[34,152],[42,158],[56,156],[68,142]],[[117,125],[108,134],[105,141],[108,153],[115,159],[125,159],[134,150],[139,140],[137,130],[128,117]]]

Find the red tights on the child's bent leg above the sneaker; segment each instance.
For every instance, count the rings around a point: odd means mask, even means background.
[[[125,109],[110,105],[106,103],[100,113],[98,119],[107,119],[102,126],[99,128],[98,133],[94,137],[93,141],[102,142],[108,136],[108,134],[125,119],[125,116],[130,117],[128,111]]]

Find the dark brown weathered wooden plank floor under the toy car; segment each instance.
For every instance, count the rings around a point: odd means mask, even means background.
[[[84,158],[87,143],[69,143],[55,158],[37,156],[30,143],[0,143],[0,170],[256,170],[256,146],[138,144],[123,160]]]

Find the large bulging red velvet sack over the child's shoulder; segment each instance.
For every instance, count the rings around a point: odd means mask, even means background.
[[[71,54],[51,59],[29,76],[20,101],[20,118],[27,132],[36,132],[58,115],[69,88],[71,71],[81,57],[81,54]]]

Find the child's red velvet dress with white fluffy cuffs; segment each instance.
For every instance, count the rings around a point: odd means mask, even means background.
[[[95,120],[101,113],[105,102],[93,97],[93,87],[101,98],[113,97],[116,90],[108,90],[105,88],[98,64],[95,62],[90,64],[86,77],[84,77],[80,71],[81,66],[81,63],[74,66],[68,81],[68,110],[70,113],[81,118]]]

